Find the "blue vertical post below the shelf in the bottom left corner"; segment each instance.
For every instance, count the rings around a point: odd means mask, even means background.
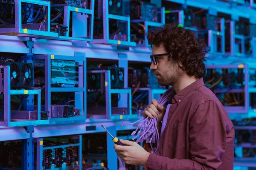
[[[30,137],[22,140],[22,170],[32,170],[34,169],[34,138],[32,137],[34,126],[29,125],[25,129]]]

